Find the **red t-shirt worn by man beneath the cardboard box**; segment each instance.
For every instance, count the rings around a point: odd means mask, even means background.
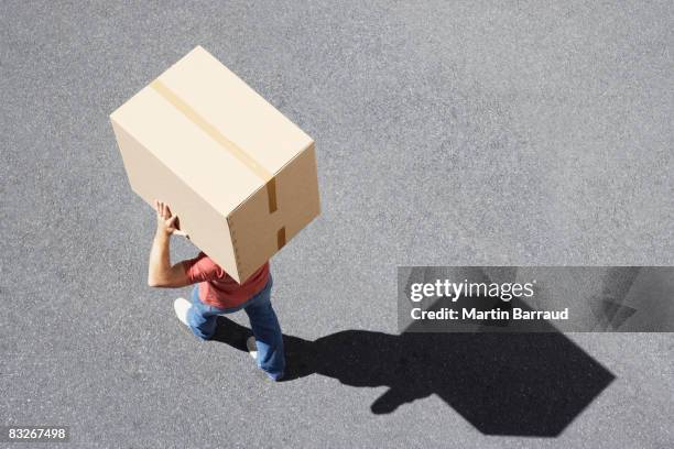
[[[238,284],[209,256],[200,252],[196,258],[183,261],[185,274],[192,284],[199,283],[199,299],[217,308],[237,307],[260,292],[269,281],[269,262],[265,262],[243,284]]]

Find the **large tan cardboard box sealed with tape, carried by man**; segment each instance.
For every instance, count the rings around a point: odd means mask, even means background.
[[[239,283],[319,213],[314,141],[200,46],[110,120],[131,188]]]

